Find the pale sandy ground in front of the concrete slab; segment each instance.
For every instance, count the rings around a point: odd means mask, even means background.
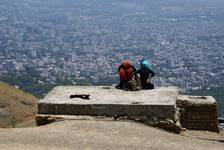
[[[223,136],[192,133],[177,135],[135,122],[67,120],[41,127],[0,129],[0,149],[224,149]]]

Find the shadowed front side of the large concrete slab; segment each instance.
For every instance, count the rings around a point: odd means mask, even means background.
[[[114,120],[135,120],[173,132],[181,131],[175,105],[74,105],[39,103],[38,110],[41,112],[36,119],[38,125],[45,124],[43,122],[52,122],[55,119],[52,115],[106,116],[112,117]],[[48,114],[51,115],[48,116]]]

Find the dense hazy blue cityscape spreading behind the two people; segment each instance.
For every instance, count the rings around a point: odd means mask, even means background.
[[[111,85],[123,60],[147,59],[156,86],[222,87],[224,2],[168,1],[1,1],[1,80]]]

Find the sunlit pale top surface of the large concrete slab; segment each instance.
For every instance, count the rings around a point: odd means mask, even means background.
[[[70,98],[70,95],[90,95],[89,100]],[[133,104],[174,105],[178,96],[175,87],[154,90],[124,91],[102,86],[58,86],[40,103],[57,104]]]

